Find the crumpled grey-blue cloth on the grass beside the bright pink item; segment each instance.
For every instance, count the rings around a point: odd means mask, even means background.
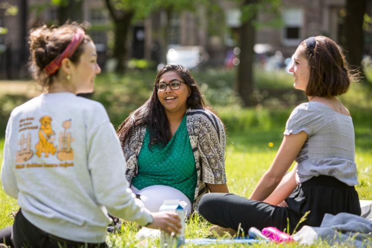
[[[349,213],[325,214],[320,227],[304,226],[293,235],[295,241],[305,245],[319,238],[331,246],[342,242],[360,248],[372,247],[372,222]]]

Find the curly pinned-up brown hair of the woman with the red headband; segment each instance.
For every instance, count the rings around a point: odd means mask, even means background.
[[[76,30],[82,28],[76,22],[66,23],[60,27],[52,26],[33,28],[30,31],[30,62],[29,68],[32,77],[43,87],[49,87],[53,83],[53,79],[58,75],[59,69],[48,75],[44,71],[44,67],[60,55],[67,45],[71,42]],[[92,39],[85,35],[83,41],[76,49],[75,53],[68,59],[73,63],[79,63],[80,56],[83,54],[83,45]]]

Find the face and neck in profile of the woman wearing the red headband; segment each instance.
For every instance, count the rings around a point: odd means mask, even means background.
[[[83,53],[79,62],[71,66],[71,83],[75,87],[75,93],[91,93],[94,90],[94,79],[101,72],[97,64],[96,46],[93,42],[83,45]]]

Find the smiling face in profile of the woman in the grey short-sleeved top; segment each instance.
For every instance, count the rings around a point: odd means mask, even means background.
[[[293,55],[293,65],[289,69],[294,76],[293,87],[303,91],[306,91],[310,78],[310,66],[308,60],[304,56],[305,50],[306,47],[302,44],[297,48],[295,54]]]

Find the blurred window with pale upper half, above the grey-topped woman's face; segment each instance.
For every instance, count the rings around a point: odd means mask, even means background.
[[[301,8],[286,9],[283,12],[284,29],[282,43],[286,46],[297,46],[301,42],[304,13]]]

